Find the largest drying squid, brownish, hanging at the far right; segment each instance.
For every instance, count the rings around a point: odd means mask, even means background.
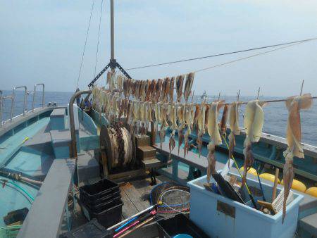
[[[301,131],[301,109],[307,109],[312,104],[311,94],[304,94],[302,96],[292,96],[285,102],[288,110],[287,120],[287,149],[284,151],[285,165],[283,168],[283,182],[284,182],[284,200],[282,210],[282,223],[286,215],[286,201],[290,194],[292,182],[294,178],[293,157],[304,158],[304,151],[302,149],[302,131]]]

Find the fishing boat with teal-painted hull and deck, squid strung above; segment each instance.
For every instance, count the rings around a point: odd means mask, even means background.
[[[213,101],[217,105],[205,104],[206,93],[199,104],[189,103],[188,85],[194,80],[189,74],[175,78],[175,96],[174,84],[172,96],[161,93],[172,77],[162,80],[158,90],[159,80],[155,85],[144,80],[145,89],[136,95],[129,88],[137,87],[138,80],[129,84],[130,75],[114,58],[113,28],[111,0],[111,60],[68,105],[45,101],[42,83],[32,92],[27,86],[13,88],[11,95],[0,91],[0,237],[317,236],[317,147],[301,144],[304,160],[294,159],[283,214],[286,190],[279,180],[290,142],[260,131],[251,145],[255,163],[244,173],[245,141],[251,132],[238,128],[228,156],[228,120],[219,128],[217,119],[209,125],[218,104],[229,103],[218,98]],[[95,83],[108,69],[107,87],[98,87]],[[180,80],[185,89],[178,102]],[[24,108],[15,116],[17,89],[24,89]],[[35,108],[39,89],[42,106]],[[11,101],[8,120],[2,120],[5,100]],[[182,112],[187,106],[204,112],[190,131],[194,118]],[[164,110],[169,118],[157,119]],[[199,129],[200,120],[204,129]],[[213,132],[221,129],[220,142],[215,143]]]

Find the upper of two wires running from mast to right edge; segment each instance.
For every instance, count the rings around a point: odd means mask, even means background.
[[[152,64],[152,65],[142,65],[139,67],[135,67],[135,68],[128,68],[126,70],[137,70],[140,68],[149,68],[149,67],[154,67],[154,66],[160,66],[160,65],[169,65],[169,64],[173,64],[173,63],[182,63],[182,62],[186,62],[186,61],[196,61],[199,59],[203,59],[203,58],[212,58],[212,57],[216,57],[216,56],[226,56],[226,55],[230,55],[230,54],[237,54],[237,53],[243,53],[243,52],[247,52],[247,51],[255,51],[255,50],[259,50],[259,49],[266,49],[266,48],[272,48],[272,47],[276,47],[276,46],[284,46],[284,45],[288,45],[288,44],[299,44],[299,43],[304,43],[304,42],[309,42],[312,40],[317,39],[317,37],[315,38],[310,38],[310,39],[302,39],[296,42],[285,42],[285,43],[281,43],[281,44],[273,44],[273,45],[269,45],[269,46],[261,46],[261,47],[257,47],[257,48],[251,48],[251,49],[243,49],[240,51],[231,51],[231,52],[227,52],[227,53],[221,53],[221,54],[213,54],[211,56],[201,56],[201,57],[197,57],[197,58],[186,58],[183,60],[178,60],[178,61],[170,61],[170,62],[166,62],[166,63],[156,63],[156,64]]]

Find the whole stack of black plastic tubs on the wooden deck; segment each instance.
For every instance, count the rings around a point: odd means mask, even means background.
[[[97,183],[80,187],[80,206],[88,220],[97,218],[104,227],[119,223],[122,217],[120,189],[111,180],[100,180]]]

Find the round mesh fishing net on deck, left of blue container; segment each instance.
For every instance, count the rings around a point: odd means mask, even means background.
[[[185,213],[190,208],[190,190],[175,182],[163,182],[156,185],[150,194],[152,205],[157,204],[160,214]]]

